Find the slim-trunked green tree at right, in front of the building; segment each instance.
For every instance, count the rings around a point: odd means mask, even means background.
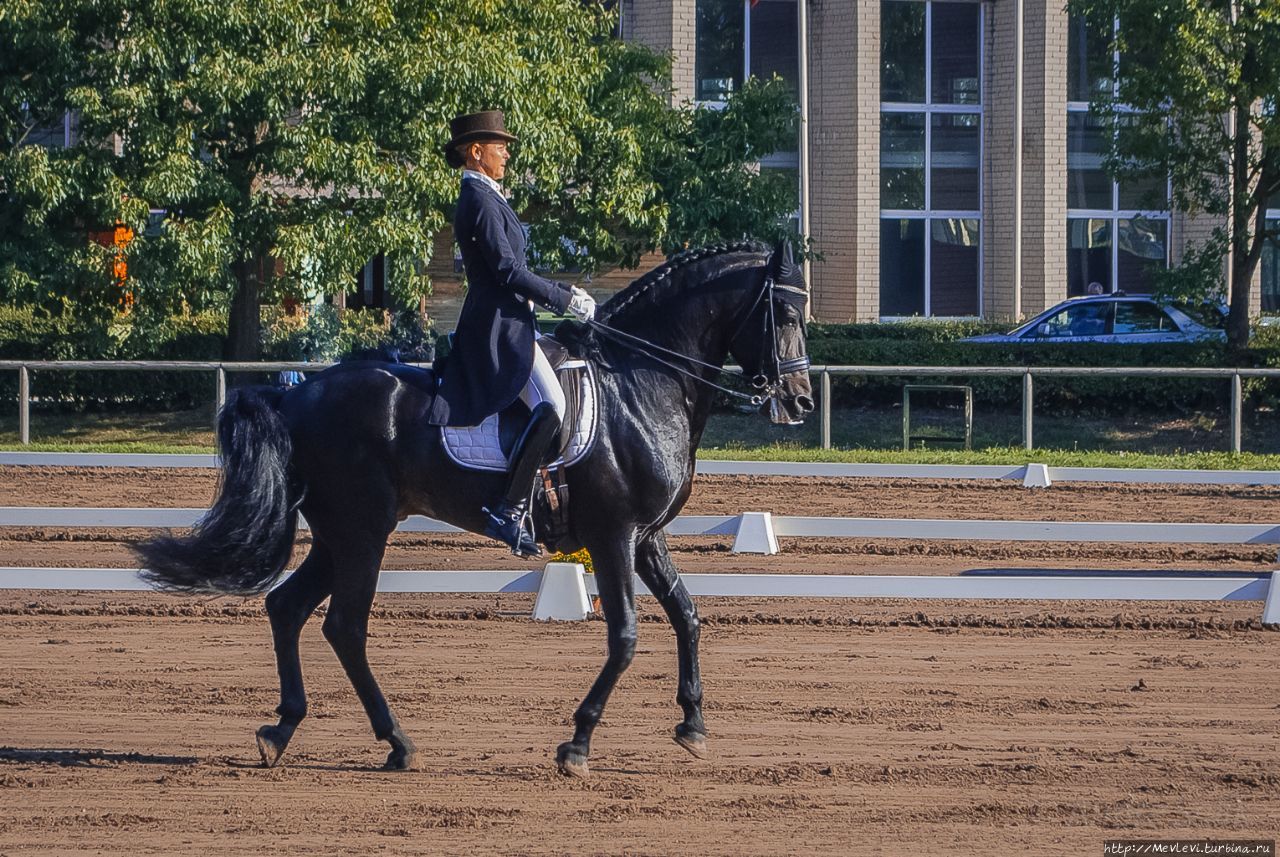
[[[1094,32],[1115,33],[1119,63],[1094,110],[1112,132],[1108,166],[1169,175],[1187,212],[1226,217],[1188,255],[1192,272],[1231,275],[1228,340],[1249,335],[1249,283],[1280,193],[1280,4],[1275,0],[1071,0]],[[1108,54],[1110,56],[1111,54]]]

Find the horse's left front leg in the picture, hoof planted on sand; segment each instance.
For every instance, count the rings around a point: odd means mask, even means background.
[[[588,757],[591,753],[591,733],[604,714],[618,677],[631,664],[636,651],[635,544],[627,539],[621,544],[589,545],[599,588],[600,610],[608,627],[608,657],[604,668],[573,712],[573,739],[556,751],[556,764],[562,774],[586,776]]]

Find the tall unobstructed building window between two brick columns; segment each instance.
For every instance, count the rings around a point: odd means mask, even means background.
[[[881,4],[881,316],[982,308],[982,5]]]

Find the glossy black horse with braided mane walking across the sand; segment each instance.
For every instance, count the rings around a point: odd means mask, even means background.
[[[699,622],[663,537],[692,485],[694,457],[728,356],[744,367],[776,422],[813,409],[805,356],[808,294],[790,248],[755,243],[689,251],[602,306],[577,350],[595,361],[599,428],[591,452],[568,468],[570,535],[586,547],[608,623],[608,659],[573,715],[557,764],[584,776],[591,733],[636,645],[634,576],[657,596],[676,632],[684,720],[676,742],[707,752],[698,669]],[[572,325],[566,325],[572,329]],[[306,715],[298,634],[329,599],[324,634],[342,661],[379,741],[387,767],[412,762],[413,742],[392,714],[365,654],[369,611],[387,540],[410,514],[483,532],[481,507],[502,475],[460,468],[424,423],[430,385],[406,366],[334,367],[305,384],[233,391],[219,417],[223,481],[212,508],[183,539],[137,546],[160,588],[255,594],[282,574],[297,513],[312,547],[266,596],[280,675],[279,723],[257,732],[274,765]]]

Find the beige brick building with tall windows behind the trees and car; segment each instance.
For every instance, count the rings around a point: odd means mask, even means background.
[[[1018,229],[1014,0],[809,0],[817,318],[1011,318],[1094,283],[1140,292],[1149,266],[1178,263],[1208,233],[1170,211],[1167,183],[1103,171],[1088,101],[1110,81],[1088,60],[1105,40],[1062,6],[1023,4]],[[744,75],[799,79],[796,0],[623,0],[622,15],[625,38],[671,51],[677,100],[714,107]],[[1280,310],[1277,262],[1270,247],[1256,310]]]

